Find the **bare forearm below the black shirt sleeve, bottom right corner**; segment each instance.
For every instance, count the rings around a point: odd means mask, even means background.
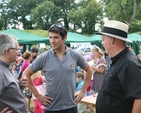
[[[141,99],[135,99],[132,113],[141,113]]]

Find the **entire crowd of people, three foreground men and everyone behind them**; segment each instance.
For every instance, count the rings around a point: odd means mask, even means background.
[[[94,45],[89,61],[65,45],[64,26],[48,32],[50,50],[22,56],[16,38],[0,34],[0,113],[31,113],[31,97],[34,113],[84,113],[79,102],[95,93],[96,113],[141,113],[141,61],[126,46],[127,24],[108,20],[98,33],[105,52]]]

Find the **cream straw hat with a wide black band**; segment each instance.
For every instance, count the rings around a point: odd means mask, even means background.
[[[108,20],[105,22],[104,28],[102,29],[102,31],[96,34],[100,34],[100,35],[104,34],[107,36],[112,36],[119,40],[132,42],[131,40],[127,39],[128,28],[129,28],[128,25],[123,22],[116,21],[116,20]]]

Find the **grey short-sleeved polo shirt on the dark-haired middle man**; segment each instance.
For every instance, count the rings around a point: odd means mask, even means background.
[[[36,72],[43,70],[46,79],[46,95],[53,98],[52,105],[45,109],[50,111],[65,110],[75,107],[77,66],[86,67],[87,62],[76,51],[67,48],[60,60],[53,49],[41,54],[29,68]]]

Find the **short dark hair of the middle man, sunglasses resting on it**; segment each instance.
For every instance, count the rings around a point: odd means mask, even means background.
[[[54,33],[59,33],[62,39],[67,35],[67,29],[60,23],[53,24],[48,32],[54,32]]]

